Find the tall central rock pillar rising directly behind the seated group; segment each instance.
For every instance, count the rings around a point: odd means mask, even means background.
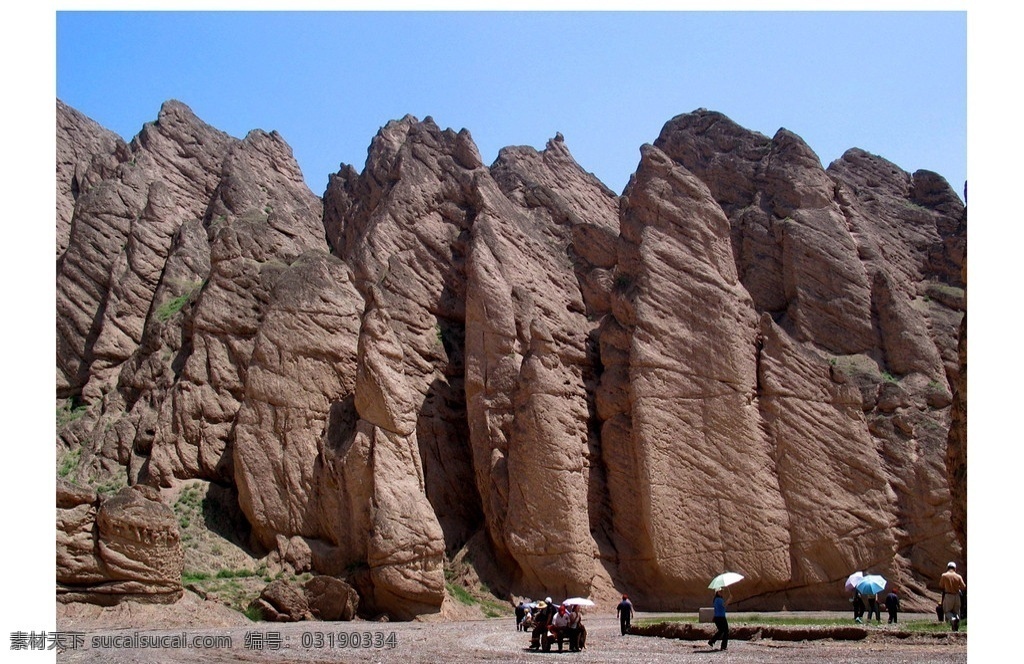
[[[503,150],[492,173],[478,180],[466,298],[477,484],[523,590],[585,594],[607,577],[595,565],[606,516],[591,403],[615,198],[560,135],[541,153]]]

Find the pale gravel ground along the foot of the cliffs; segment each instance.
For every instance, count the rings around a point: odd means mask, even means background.
[[[637,619],[656,618],[657,614],[638,614]],[[736,615],[733,620],[739,620]],[[912,619],[905,616],[904,619]],[[712,650],[705,641],[683,641],[618,634],[613,615],[591,615],[586,620],[588,648],[582,653],[538,653],[527,649],[529,636],[515,630],[512,619],[460,622],[409,623],[252,623],[203,629],[109,629],[84,625],[66,626],[83,634],[78,649],[58,654],[59,662],[103,662],[129,664],[135,662],[297,662],[327,663],[380,662],[412,664],[414,662],[530,662],[545,661],[611,663],[637,662],[668,664],[670,662],[735,661],[753,663],[810,664],[818,662],[859,662],[898,664],[900,662],[934,662],[952,664],[967,662],[967,635],[940,634],[896,638],[887,636],[885,625],[871,636],[859,641],[737,641],[729,650]],[[358,634],[358,636],[355,636]],[[140,648],[131,644],[100,640],[120,636],[144,636],[194,639],[228,637],[210,648]],[[333,639],[333,640],[332,640]],[[344,645],[342,639],[345,640]],[[358,639],[360,648],[354,648]],[[366,648],[368,640],[378,647]],[[389,646],[386,641],[390,640]]]

